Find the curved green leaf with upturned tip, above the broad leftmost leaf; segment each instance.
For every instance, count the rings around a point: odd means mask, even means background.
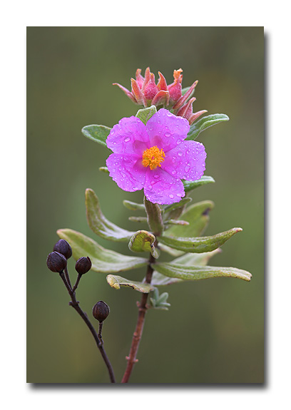
[[[91,189],[86,189],[86,215],[88,225],[96,235],[113,242],[128,242],[134,232],[125,230],[110,222],[101,212],[98,197]]]

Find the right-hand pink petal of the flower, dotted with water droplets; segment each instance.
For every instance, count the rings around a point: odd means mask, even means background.
[[[176,178],[188,181],[199,180],[205,171],[204,145],[197,141],[183,141],[168,151],[161,168]]]

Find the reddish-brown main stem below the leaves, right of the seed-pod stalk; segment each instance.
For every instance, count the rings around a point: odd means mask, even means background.
[[[152,275],[153,275],[153,268],[150,266],[151,263],[154,262],[154,258],[152,255],[150,255],[150,258],[148,260],[148,270],[146,272],[146,283],[150,283]],[[139,304],[138,307],[138,322],[136,323],[136,329],[133,333],[133,339],[131,342],[131,350],[129,352],[129,356],[126,357],[128,363],[126,367],[126,371],[123,375],[123,379],[121,380],[121,383],[128,383],[128,380],[131,376],[131,371],[133,370],[134,364],[138,362],[136,359],[136,355],[138,354],[138,347],[141,342],[141,336],[143,334],[143,324],[145,322],[145,317],[146,317],[146,302],[148,300],[148,293],[143,293],[141,297],[141,303]]]

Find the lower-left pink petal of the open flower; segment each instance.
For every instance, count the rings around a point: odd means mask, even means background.
[[[146,168],[136,155],[111,154],[106,160],[109,175],[122,190],[133,192],[143,189]]]

